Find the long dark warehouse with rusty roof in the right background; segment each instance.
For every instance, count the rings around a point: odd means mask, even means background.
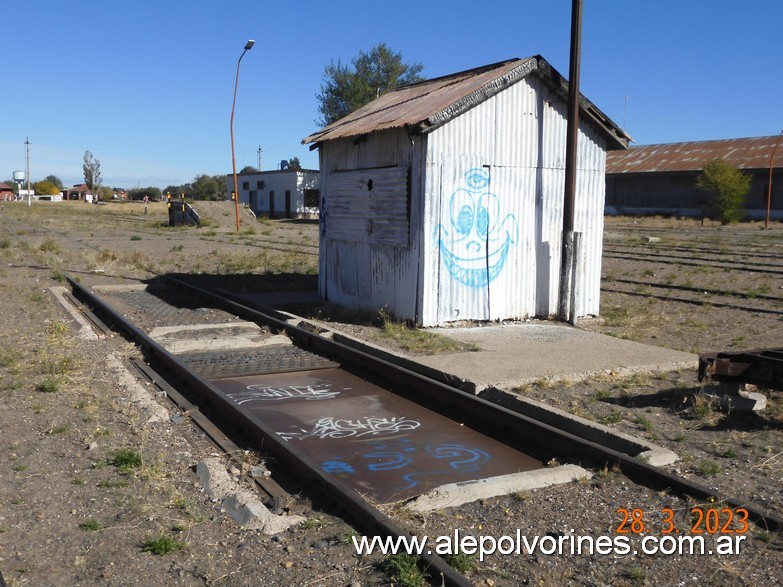
[[[696,187],[704,164],[724,159],[752,177],[745,208],[750,218],[767,212],[770,160],[778,137],[669,143],[614,151],[606,158],[606,213],[700,217],[709,195]],[[783,219],[783,145],[772,161],[770,218]]]

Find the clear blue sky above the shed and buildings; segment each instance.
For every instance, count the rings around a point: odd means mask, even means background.
[[[436,77],[541,54],[569,69],[570,0],[221,2],[25,0],[3,9],[0,181],[25,168],[81,183],[165,187],[275,169],[317,129],[324,67],[380,42]],[[581,90],[636,144],[776,135],[783,2],[584,0]]]

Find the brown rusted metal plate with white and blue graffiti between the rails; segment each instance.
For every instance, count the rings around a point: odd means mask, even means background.
[[[339,369],[214,379],[324,472],[382,503],[544,465]]]

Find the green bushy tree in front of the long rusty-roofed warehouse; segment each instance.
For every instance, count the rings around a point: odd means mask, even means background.
[[[696,187],[712,195],[710,217],[729,224],[745,215],[743,206],[750,191],[751,176],[743,173],[728,161],[713,159],[704,165],[696,179]]]

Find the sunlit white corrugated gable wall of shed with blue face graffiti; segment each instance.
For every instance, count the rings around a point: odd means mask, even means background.
[[[557,312],[565,111],[529,76],[428,135],[424,325]],[[580,127],[574,225],[584,234],[583,316],[599,310],[605,152],[598,133]],[[487,259],[483,276],[471,251]]]

